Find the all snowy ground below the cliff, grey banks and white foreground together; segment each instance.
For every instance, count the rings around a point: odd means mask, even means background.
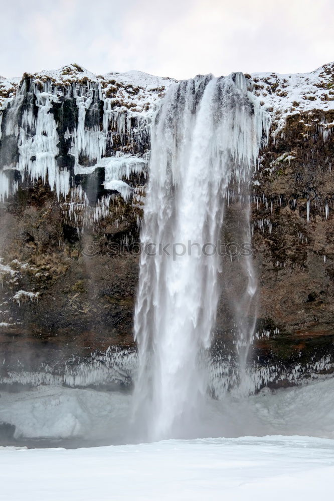
[[[16,445],[128,445],[0,446],[0,501],[328,498],[334,475],[333,396],[334,378],[329,378],[274,392],[267,388],[247,398],[208,398],[200,425],[184,438],[239,438],[135,444],[130,393],[57,385],[2,391],[0,422],[15,426]]]

